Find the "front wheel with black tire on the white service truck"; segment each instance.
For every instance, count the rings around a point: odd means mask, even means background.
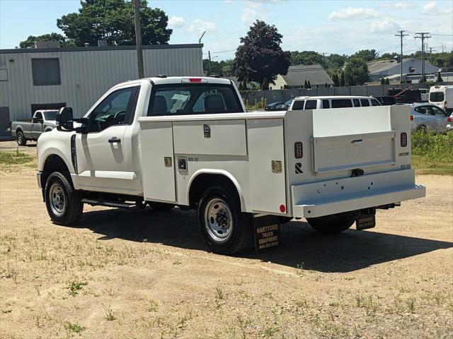
[[[58,225],[71,225],[79,220],[84,203],[81,192],[76,191],[68,180],[68,172],[53,172],[45,184],[45,206],[50,219]],[[63,203],[52,202],[52,198],[64,198]],[[58,205],[59,204],[59,205]],[[56,206],[59,206],[57,208]],[[61,213],[57,213],[60,210]]]

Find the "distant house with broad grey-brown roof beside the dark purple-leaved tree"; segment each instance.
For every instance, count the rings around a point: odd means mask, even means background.
[[[312,88],[333,87],[333,81],[321,65],[289,66],[285,76],[278,75],[275,84],[269,84],[270,90],[284,88],[303,88],[305,81],[310,82]]]

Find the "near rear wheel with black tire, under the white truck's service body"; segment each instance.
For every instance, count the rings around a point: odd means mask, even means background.
[[[221,207],[217,207],[215,219],[209,218],[209,211],[216,210],[216,202]],[[200,203],[198,203],[197,218],[201,237],[213,252],[217,254],[236,254],[251,246],[253,215],[241,212],[241,201],[236,189],[231,188],[228,183],[214,182],[202,194]],[[212,220],[215,222],[212,222]],[[229,226],[224,231],[225,234],[220,233],[223,232],[220,230],[216,234],[212,230],[214,223],[215,225],[227,223]],[[219,227],[221,228],[222,226]],[[229,235],[226,236],[226,234]],[[224,239],[221,239],[222,237]]]

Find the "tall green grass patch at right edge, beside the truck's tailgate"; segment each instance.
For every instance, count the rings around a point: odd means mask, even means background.
[[[412,165],[418,174],[453,174],[453,133],[412,133]]]

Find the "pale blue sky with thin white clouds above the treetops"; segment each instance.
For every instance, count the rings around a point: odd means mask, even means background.
[[[404,49],[415,52],[415,32],[431,32],[429,47],[453,49],[453,1],[151,0],[166,11],[170,43],[195,43],[207,30],[203,52],[231,59],[254,20],[275,25],[285,50],[352,54],[374,48],[399,50],[397,30],[407,30]],[[14,48],[28,35],[60,32],[57,18],[77,11],[79,0],[0,0],[0,49]]]

